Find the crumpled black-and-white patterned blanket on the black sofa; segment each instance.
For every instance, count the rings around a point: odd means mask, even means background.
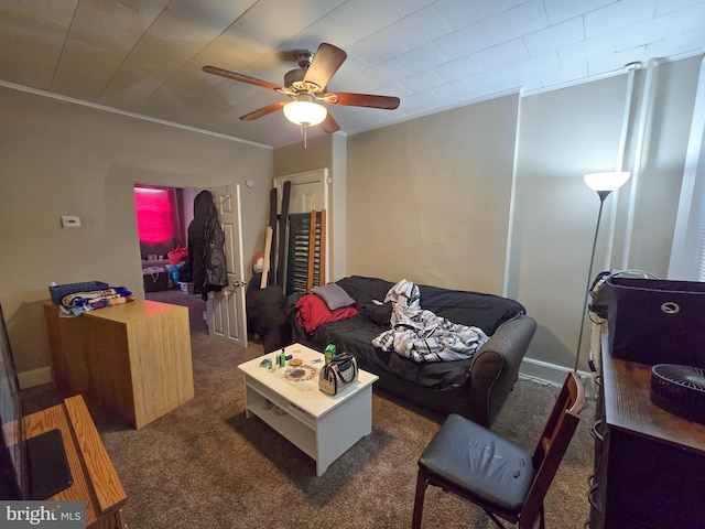
[[[471,358],[489,338],[475,326],[453,323],[421,307],[419,287],[402,279],[392,287],[384,303],[392,303],[391,328],[372,344],[419,363]]]

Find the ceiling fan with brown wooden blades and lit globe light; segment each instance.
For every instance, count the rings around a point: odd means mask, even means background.
[[[290,121],[301,126],[304,131],[307,127],[321,125],[324,131],[330,133],[340,130],[340,126],[321,102],[386,110],[395,109],[400,102],[398,97],[391,96],[325,91],[330,77],[338,71],[346,58],[347,53],[325,42],[318,46],[315,54],[307,50],[296,52],[299,68],[286,73],[284,76],[285,86],[279,86],[248,75],[218,68],[217,66],[204,66],[203,71],[228,79],[272,89],[290,97],[290,99],[273,102],[241,116],[240,119],[245,121],[252,121],[281,108],[284,111],[284,116]]]

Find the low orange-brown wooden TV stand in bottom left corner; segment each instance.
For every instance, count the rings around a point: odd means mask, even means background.
[[[24,418],[28,438],[59,429],[74,484],[52,496],[61,501],[86,501],[86,527],[123,527],[122,506],[128,497],[118,473],[100,441],[96,425],[80,396]]]

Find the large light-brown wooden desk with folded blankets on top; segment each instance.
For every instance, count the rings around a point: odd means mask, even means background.
[[[44,304],[56,387],[138,429],[194,397],[188,309],[137,300],[61,317]]]

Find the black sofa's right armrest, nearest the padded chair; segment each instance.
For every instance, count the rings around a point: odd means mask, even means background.
[[[495,421],[514,387],[535,331],[536,322],[531,316],[518,316],[502,324],[475,353],[469,382],[471,392],[484,400],[487,424]]]

